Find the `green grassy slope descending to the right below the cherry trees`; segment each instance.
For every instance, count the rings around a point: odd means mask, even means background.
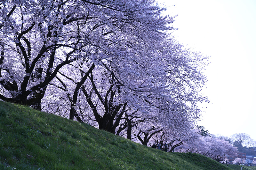
[[[0,101],[0,169],[230,170],[193,153],[167,153],[86,124]]]

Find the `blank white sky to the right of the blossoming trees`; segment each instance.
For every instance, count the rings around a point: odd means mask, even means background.
[[[256,1],[157,1],[178,15],[176,39],[210,56],[204,93],[211,103],[198,124],[211,134],[246,133],[256,140]]]

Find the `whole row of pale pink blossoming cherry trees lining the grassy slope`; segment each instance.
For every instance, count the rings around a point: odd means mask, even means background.
[[[198,135],[207,57],[174,40],[164,10],[154,0],[2,1],[0,99],[170,151],[230,149]]]

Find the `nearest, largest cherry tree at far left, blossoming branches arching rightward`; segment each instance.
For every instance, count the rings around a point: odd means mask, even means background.
[[[37,109],[61,67],[81,57],[92,64],[109,56],[129,57],[128,48],[148,35],[158,38],[159,30],[169,30],[167,24],[173,22],[160,17],[162,9],[154,1],[22,0],[0,5],[0,97]]]

